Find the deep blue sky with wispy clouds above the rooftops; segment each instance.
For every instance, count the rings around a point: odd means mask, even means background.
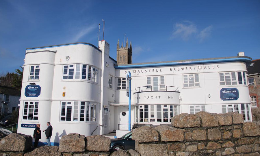
[[[124,35],[133,63],[236,56],[260,58],[260,1],[0,0],[0,73],[23,65],[29,47],[88,42],[98,24],[116,59]]]

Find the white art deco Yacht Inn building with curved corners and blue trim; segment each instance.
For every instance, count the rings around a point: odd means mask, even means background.
[[[24,59],[18,133],[51,122],[51,144],[69,133],[85,136],[128,130],[127,73],[131,72],[131,128],[170,124],[180,113],[238,112],[251,121],[246,67],[238,56],[120,64],[99,41],[28,48]],[[118,46],[119,47],[119,46]],[[127,44],[128,47],[128,44]],[[124,57],[123,57],[124,59]],[[129,58],[127,58],[129,59]],[[44,133],[40,142],[46,143]]]

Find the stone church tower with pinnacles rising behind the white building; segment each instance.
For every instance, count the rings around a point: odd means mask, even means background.
[[[123,42],[121,47],[119,47],[119,39],[118,39],[116,51],[117,51],[116,61],[118,65],[132,63],[132,43],[130,41],[130,47],[128,48],[128,38],[125,47],[123,47]]]

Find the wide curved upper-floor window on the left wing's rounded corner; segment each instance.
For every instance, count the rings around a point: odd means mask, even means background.
[[[70,64],[63,66],[62,79],[83,79],[97,82],[98,69],[86,64]]]

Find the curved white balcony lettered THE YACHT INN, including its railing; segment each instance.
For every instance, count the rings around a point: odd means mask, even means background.
[[[178,87],[166,85],[148,85],[137,87],[133,94],[135,104],[180,104]]]

